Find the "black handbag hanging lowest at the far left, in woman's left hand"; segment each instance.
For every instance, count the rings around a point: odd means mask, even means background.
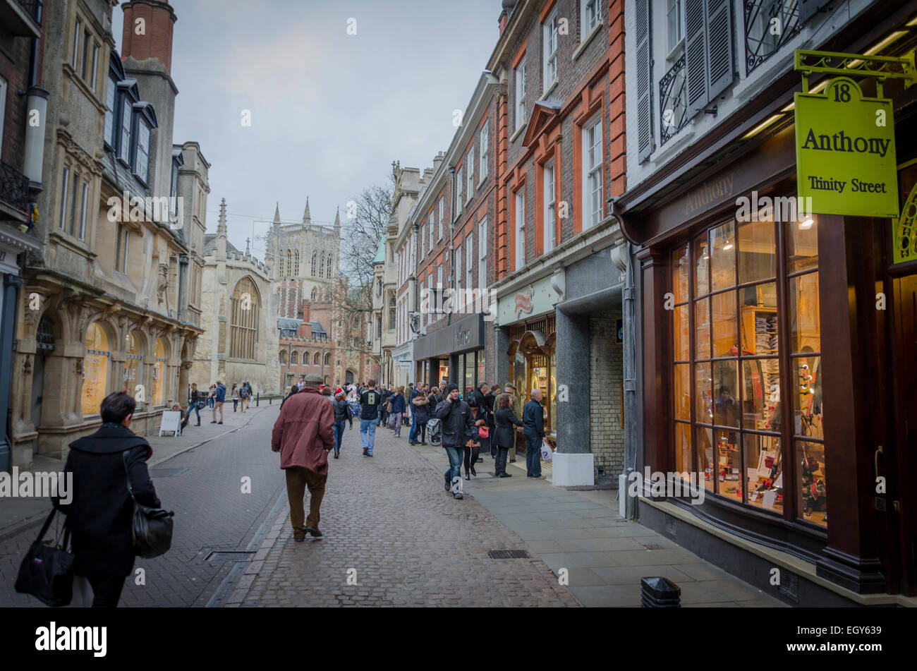
[[[68,606],[73,599],[73,563],[76,561],[66,549],[70,542],[69,520],[63,525],[62,543],[46,545],[41,542],[57,512],[57,509],[50,512],[38,539],[28,548],[19,565],[16,590],[20,594],[31,594],[48,606]]]

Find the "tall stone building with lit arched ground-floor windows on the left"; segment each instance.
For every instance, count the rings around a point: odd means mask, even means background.
[[[155,431],[183,402],[201,329],[185,321],[189,232],[173,179],[178,93],[175,14],[144,0],[147,34],[114,50],[109,0],[49,3],[42,84],[49,90],[36,236],[24,270],[12,385],[13,463],[63,457],[101,424],[111,391],[135,395],[132,428]],[[133,26],[138,3],[124,5]],[[137,50],[133,50],[137,49]],[[204,178],[205,183],[205,178]],[[189,197],[191,194],[187,194]]]

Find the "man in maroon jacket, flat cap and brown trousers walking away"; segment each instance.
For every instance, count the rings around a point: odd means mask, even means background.
[[[290,522],[297,543],[305,540],[305,534],[322,537],[318,509],[328,479],[328,452],[335,446],[335,411],[318,391],[324,381],[319,375],[306,376],[303,391],[283,404],[271,436],[271,449],[281,453],[281,468],[286,471]],[[306,487],[310,497],[308,519],[304,519],[303,507]]]

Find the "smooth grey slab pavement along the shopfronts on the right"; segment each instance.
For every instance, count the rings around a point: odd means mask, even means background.
[[[447,465],[440,447],[412,448],[437,470]],[[569,590],[584,606],[639,607],[640,578],[662,576],[681,588],[685,606],[785,607],[669,538],[617,512],[616,490],[565,490],[547,479],[527,479],[525,464],[511,465],[512,479],[464,481],[465,491],[514,530],[556,575],[566,569]],[[479,473],[492,471],[484,456]]]

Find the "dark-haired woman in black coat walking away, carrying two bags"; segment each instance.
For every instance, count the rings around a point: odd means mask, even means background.
[[[104,424],[70,445],[64,471],[72,473],[72,501],[55,501],[67,515],[75,556],[73,574],[88,578],[93,608],[115,608],[125,578],[134,570],[134,501],[127,479],[138,503],[160,507],[147,470],[153,449],[129,428],[136,407],[125,391],[105,397]]]

